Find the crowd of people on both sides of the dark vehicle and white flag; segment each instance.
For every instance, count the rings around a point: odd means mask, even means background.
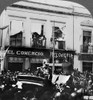
[[[40,70],[42,69],[39,69],[39,71]],[[44,72],[44,66],[43,66],[43,72]],[[60,74],[63,75],[64,73]],[[9,93],[11,87],[13,88],[13,86],[16,85],[18,75],[34,75],[34,73],[31,73],[30,70],[26,70],[24,72],[19,72],[19,71],[3,72],[0,75],[0,99],[2,97],[5,97],[4,96],[5,93]],[[35,75],[37,75],[37,77],[40,77],[39,73]],[[42,74],[41,77],[44,77],[44,75]],[[82,89],[84,95],[93,96],[93,73],[90,73],[88,71],[81,73],[77,69],[74,69],[70,74],[69,81],[66,83],[66,85],[68,85],[70,89],[73,90],[74,92],[78,91],[79,89]],[[6,92],[7,90],[8,92]],[[6,100],[6,99],[1,99],[1,100]],[[13,98],[11,100],[13,100]]]

